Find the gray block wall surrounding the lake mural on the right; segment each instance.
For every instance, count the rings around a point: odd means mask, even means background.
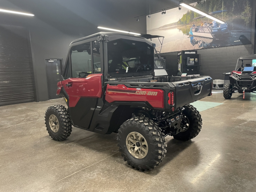
[[[191,0],[183,1],[190,3],[196,2]],[[165,9],[167,7],[178,7],[179,0],[147,0],[147,13],[149,13],[149,6],[150,12],[152,13],[161,9]],[[252,44],[197,50],[197,53],[200,54],[200,75],[211,76],[213,79],[224,79],[224,76],[222,74],[224,72],[231,72],[232,70],[234,70],[236,66],[236,61],[241,55],[255,53],[256,38],[254,29],[256,0],[253,0],[252,10]],[[166,58],[166,68],[169,69],[170,74],[177,74],[178,52],[164,53],[161,55]]]

